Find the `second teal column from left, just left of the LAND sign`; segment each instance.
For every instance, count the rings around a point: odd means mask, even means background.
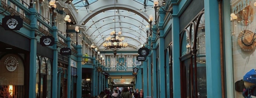
[[[55,26],[52,27],[52,35],[55,39],[55,42],[52,46],[53,48],[53,64],[52,64],[52,98],[57,98],[57,91],[58,91],[58,80],[57,80],[57,74],[58,74],[58,49],[57,49],[57,42],[58,39],[58,33],[57,28]]]

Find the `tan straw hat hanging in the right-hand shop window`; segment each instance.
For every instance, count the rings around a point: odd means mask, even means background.
[[[237,37],[237,43],[242,50],[251,51],[255,49],[256,46],[255,38],[255,33],[249,30],[244,30],[239,33]]]

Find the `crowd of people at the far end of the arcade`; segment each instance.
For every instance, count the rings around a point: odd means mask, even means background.
[[[122,91],[119,90],[119,87],[116,87],[116,90],[114,90],[112,94],[108,88],[105,88],[104,91],[100,92],[97,98],[144,98],[144,94],[142,89],[140,92],[136,89],[132,95],[129,87],[124,87]]]

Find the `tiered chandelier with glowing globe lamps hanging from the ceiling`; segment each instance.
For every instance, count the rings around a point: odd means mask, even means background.
[[[115,13],[115,11],[114,11]],[[116,14],[116,13],[115,13]],[[114,15],[114,22],[115,22],[115,29],[116,29],[116,21],[115,21],[115,16]],[[116,34],[116,31],[111,31],[110,32],[110,36],[106,38],[106,41],[103,46],[104,48],[109,48],[114,50],[114,55],[116,56],[116,50],[120,49],[120,48],[126,48],[128,46],[128,44],[126,42],[123,42],[123,40],[125,39],[125,37],[119,37],[122,34],[121,31],[118,32],[118,34]]]

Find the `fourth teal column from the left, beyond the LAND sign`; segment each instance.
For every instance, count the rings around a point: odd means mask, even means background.
[[[82,46],[77,45],[77,98],[82,98]]]

